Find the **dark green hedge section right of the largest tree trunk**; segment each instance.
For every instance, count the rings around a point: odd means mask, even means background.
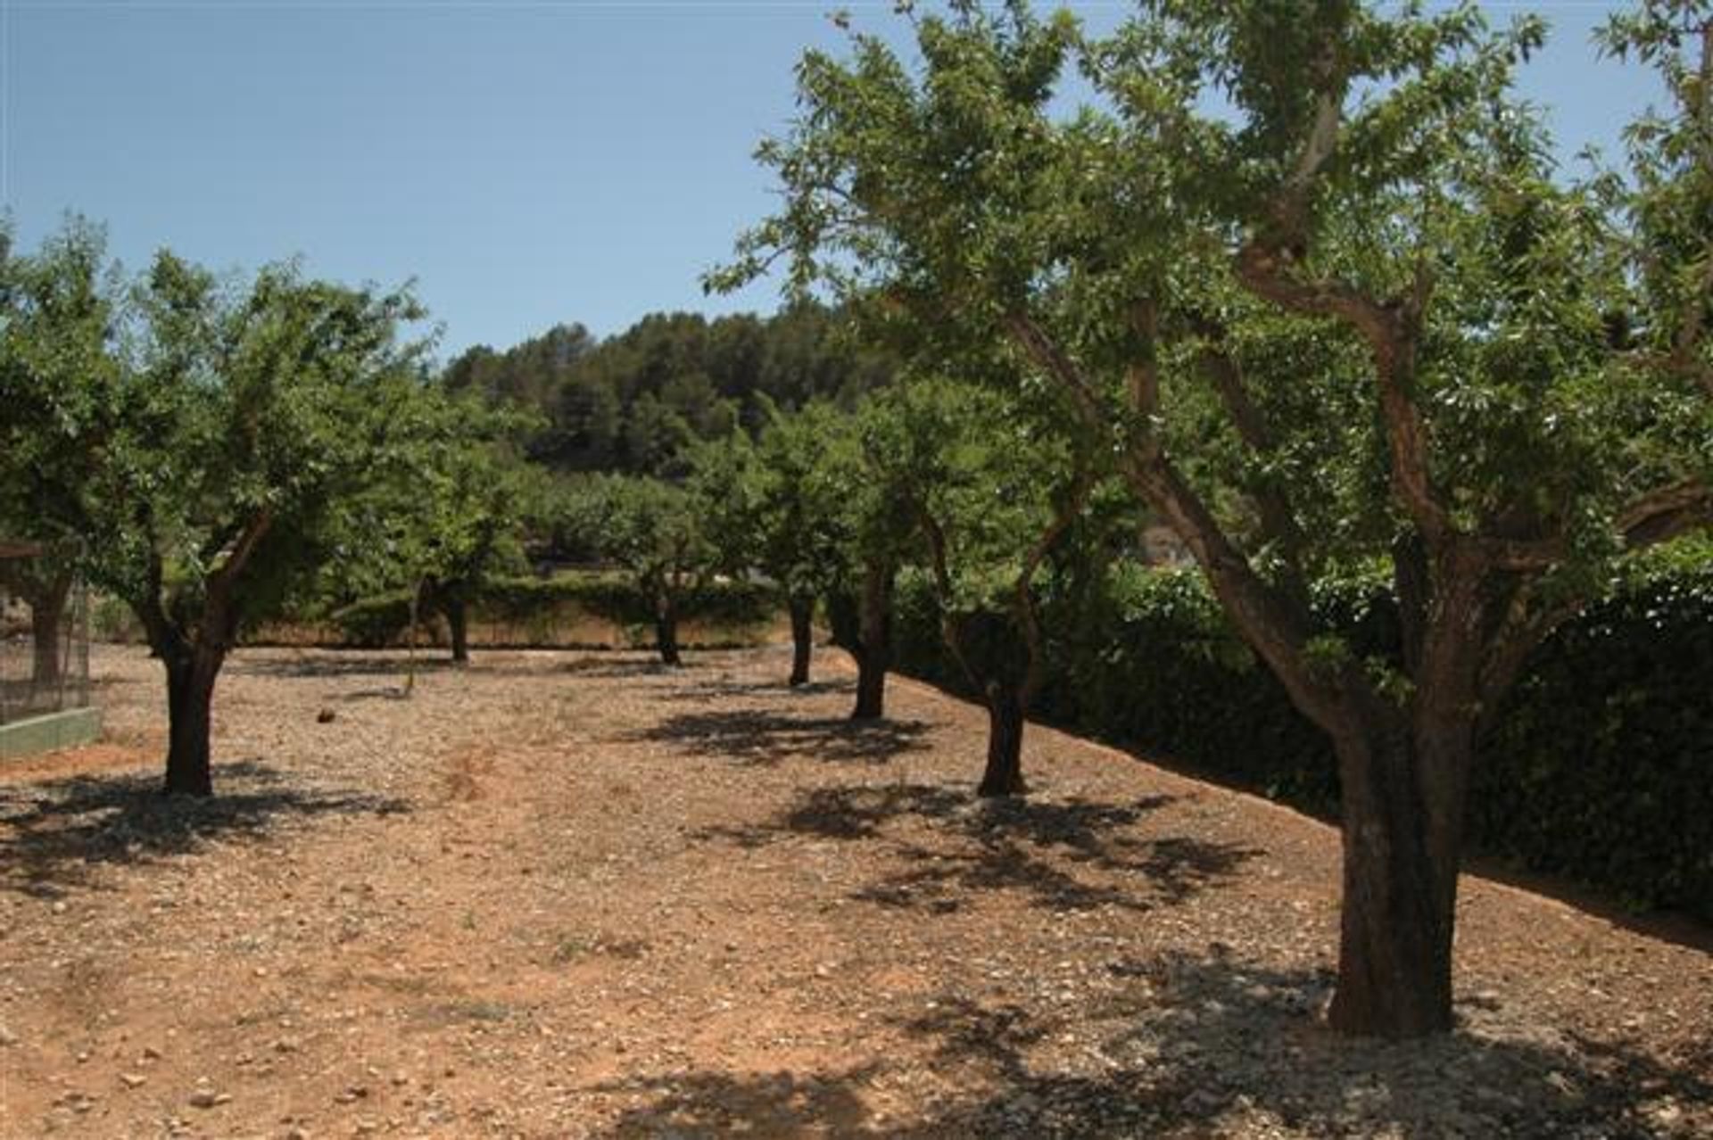
[[[1471,832],[1713,917],[1713,546],[1650,558],[1543,644],[1483,748]]]

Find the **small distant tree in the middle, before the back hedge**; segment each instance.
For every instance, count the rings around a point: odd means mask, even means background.
[[[714,567],[695,500],[661,479],[596,474],[562,491],[564,527],[586,548],[630,575],[654,616],[661,662],[683,664],[678,618],[687,591]]]

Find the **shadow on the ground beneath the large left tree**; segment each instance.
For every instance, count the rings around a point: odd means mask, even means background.
[[[262,839],[286,820],[406,811],[403,799],[284,786],[257,762],[218,765],[209,799],[163,796],[158,772],[0,786],[0,890],[57,897],[103,863],[139,864],[212,840]]]

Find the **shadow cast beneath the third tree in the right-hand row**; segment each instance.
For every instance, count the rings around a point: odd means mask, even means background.
[[[846,717],[791,717],[759,709],[682,712],[634,736],[668,743],[694,757],[776,765],[786,760],[831,763],[887,763],[927,748],[923,721],[850,721]]]

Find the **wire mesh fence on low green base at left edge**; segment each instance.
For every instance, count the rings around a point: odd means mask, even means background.
[[[0,724],[89,707],[89,591],[75,555],[0,537]]]

